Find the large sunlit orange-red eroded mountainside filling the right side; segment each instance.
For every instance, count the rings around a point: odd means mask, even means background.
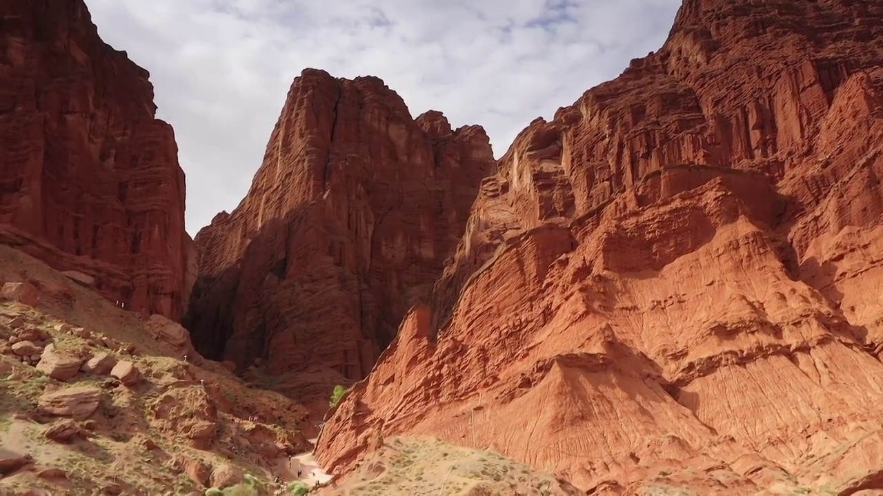
[[[881,176],[883,2],[686,0],[519,135],[317,458],[410,432],[592,494],[879,489]]]

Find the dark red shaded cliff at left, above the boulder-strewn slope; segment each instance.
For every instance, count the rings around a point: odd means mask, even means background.
[[[185,178],[147,71],[82,0],[0,0],[0,242],[179,319],[195,280]]]

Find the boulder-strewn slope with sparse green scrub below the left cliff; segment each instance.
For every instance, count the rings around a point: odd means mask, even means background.
[[[298,480],[290,456],[315,430],[301,405],[8,246],[0,279],[0,494],[201,495],[246,473],[282,494]]]

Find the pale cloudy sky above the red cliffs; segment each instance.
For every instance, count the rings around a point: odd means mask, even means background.
[[[497,157],[630,59],[681,0],[86,0],[102,39],[150,71],[175,129],[195,236],[248,192],[306,67],[377,76],[412,116],[480,124]]]

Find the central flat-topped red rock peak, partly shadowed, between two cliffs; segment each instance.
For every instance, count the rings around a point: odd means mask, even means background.
[[[480,127],[415,120],[380,79],[303,71],[251,190],[196,236],[197,349],[240,370],[314,373],[297,395],[324,404],[426,297],[493,167]]]

